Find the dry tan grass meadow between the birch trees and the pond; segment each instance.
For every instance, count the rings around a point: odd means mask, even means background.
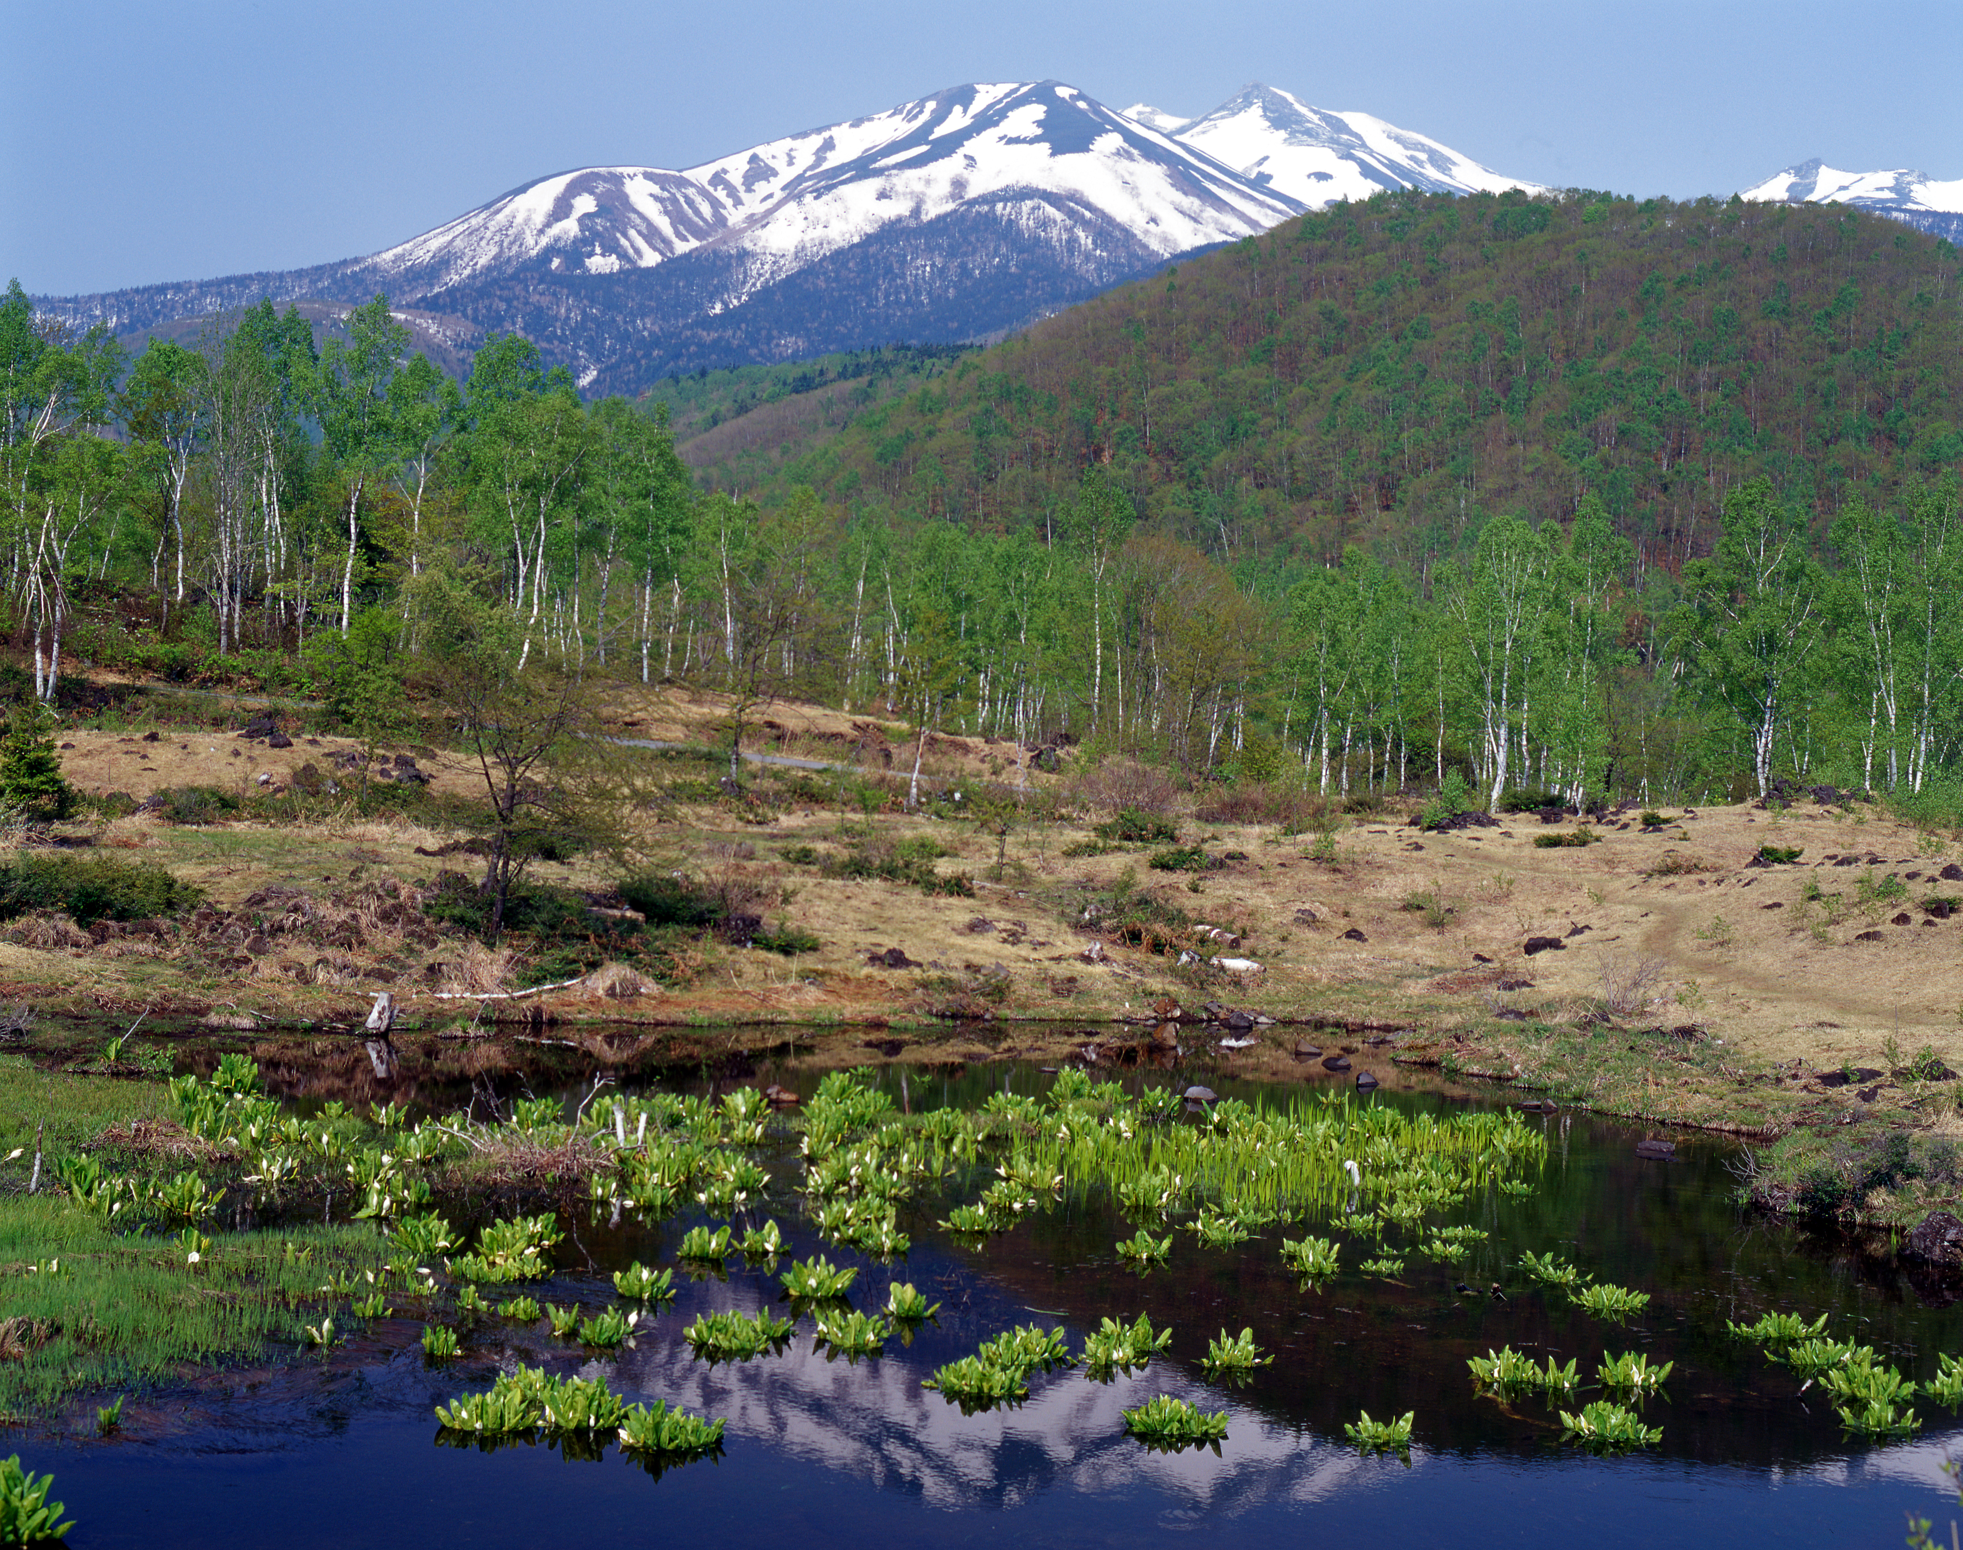
[[[722,714],[711,695],[622,693],[610,720],[626,736],[703,749]],[[1364,1054],[1364,1036],[1396,1038],[1384,1063],[1741,1128],[1851,1101],[1820,1085],[1843,1065],[1888,1071],[1924,1048],[1963,1065],[1963,871],[1941,877],[1963,846],[1873,804],[1665,808],[1651,828],[1625,810],[1592,826],[1596,844],[1543,848],[1537,838],[1572,832],[1576,820],[1543,824],[1529,812],[1421,832],[1413,802],[1349,816],[1307,799],[1270,801],[1264,812],[1209,808],[1125,763],[1086,771],[1066,755],[1052,775],[1031,749],[936,736],[923,769],[942,801],[940,816],[927,816],[899,801],[913,763],[905,728],[777,704],[748,746],[830,769],[752,765],[748,795],[732,799],[705,755],[681,759],[677,795],[646,814],[644,838],[660,867],[748,901],[819,946],[785,956],[705,940],[669,983],[609,967],[499,1003],[473,997],[530,983],[522,946],[485,948],[420,912],[446,869],[477,875],[463,828],[292,801],[304,765],[349,789],[355,777],[336,765],[357,751],[349,740],[294,736],[273,749],[224,732],[155,730],[155,740],[128,728],[67,732],[69,779],[139,801],[220,787],[241,799],[239,814],[80,828],[96,846],[200,885],[206,908],[175,934],[10,922],[0,995],[269,1026],[347,1022],[373,991],[391,989],[422,1026],[518,1014],[889,1024],[911,1028],[923,1056],[1139,1042],[1172,1005],[1190,1026],[1213,1003],[1276,1018],[1233,1056],[1245,1067],[1284,1069],[1309,1024],[1309,1036]],[[432,812],[455,816],[455,802],[481,791],[455,753],[418,748],[412,757],[450,801]],[[1013,812],[1007,834],[954,816],[991,801]],[[1150,859],[1164,846],[1099,842],[1093,826],[1133,804],[1166,812],[1203,869],[1160,871]],[[974,895],[836,875],[842,857],[889,855],[907,842],[938,852],[932,869],[972,879]],[[1755,861],[1767,846],[1798,857]],[[534,875],[595,893],[614,881],[601,857],[540,863]],[[1119,930],[1121,918],[1160,924]],[[1529,954],[1533,938],[1557,946]],[[1627,1048],[1616,1042],[1623,1034]],[[1176,1034],[1182,1046],[1195,1040]],[[1616,1069],[1584,1079],[1582,1067],[1604,1061]]]

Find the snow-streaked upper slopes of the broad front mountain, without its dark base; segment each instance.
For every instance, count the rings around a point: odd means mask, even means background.
[[[349,275],[422,296],[540,265],[618,275],[718,247],[744,259],[734,306],[744,290],[887,226],[925,226],[964,206],[995,206],[1038,237],[1095,212],[1158,257],[1298,214],[1294,202],[1044,80],[956,86],[683,173],[559,173],[361,259]]]

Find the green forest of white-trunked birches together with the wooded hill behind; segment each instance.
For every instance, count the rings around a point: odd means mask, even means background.
[[[1957,804],[1959,294],[1831,206],[1402,192],[989,349],[585,402],[518,336],[448,379],[385,298],[130,357],[14,286],[8,622],[55,704],[414,698],[461,589],[514,671],[1195,781]]]

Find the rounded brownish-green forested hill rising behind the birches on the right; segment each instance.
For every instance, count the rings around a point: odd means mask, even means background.
[[[1963,457],[1959,296],[1955,247],[1845,208],[1406,190],[1050,318],[785,449],[760,494],[1017,530],[1107,463],[1170,536],[1311,559],[1594,489],[1676,569],[1753,475],[1824,524]]]

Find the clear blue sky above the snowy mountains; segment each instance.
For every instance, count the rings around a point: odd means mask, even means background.
[[[1963,6],[63,0],[0,45],[0,281],[289,269],[546,173],[687,167],[966,80],[1199,114],[1248,80],[1635,194],[1963,177]]]

